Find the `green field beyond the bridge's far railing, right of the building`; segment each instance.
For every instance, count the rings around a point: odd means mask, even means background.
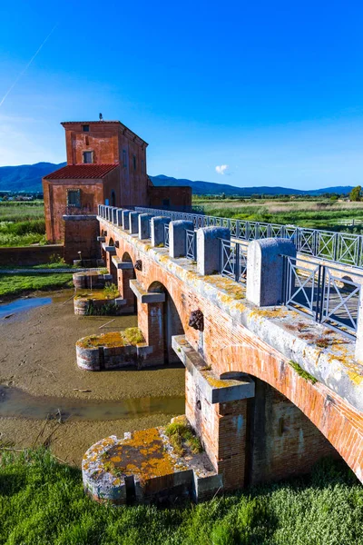
[[[319,201],[257,200],[244,202],[237,200],[201,200],[193,203],[202,206],[208,215],[220,215],[251,222],[290,223],[300,227],[316,229],[338,229],[348,232],[359,232],[362,226],[353,229],[339,224],[340,220],[363,221],[363,203],[334,202],[329,199]]]

